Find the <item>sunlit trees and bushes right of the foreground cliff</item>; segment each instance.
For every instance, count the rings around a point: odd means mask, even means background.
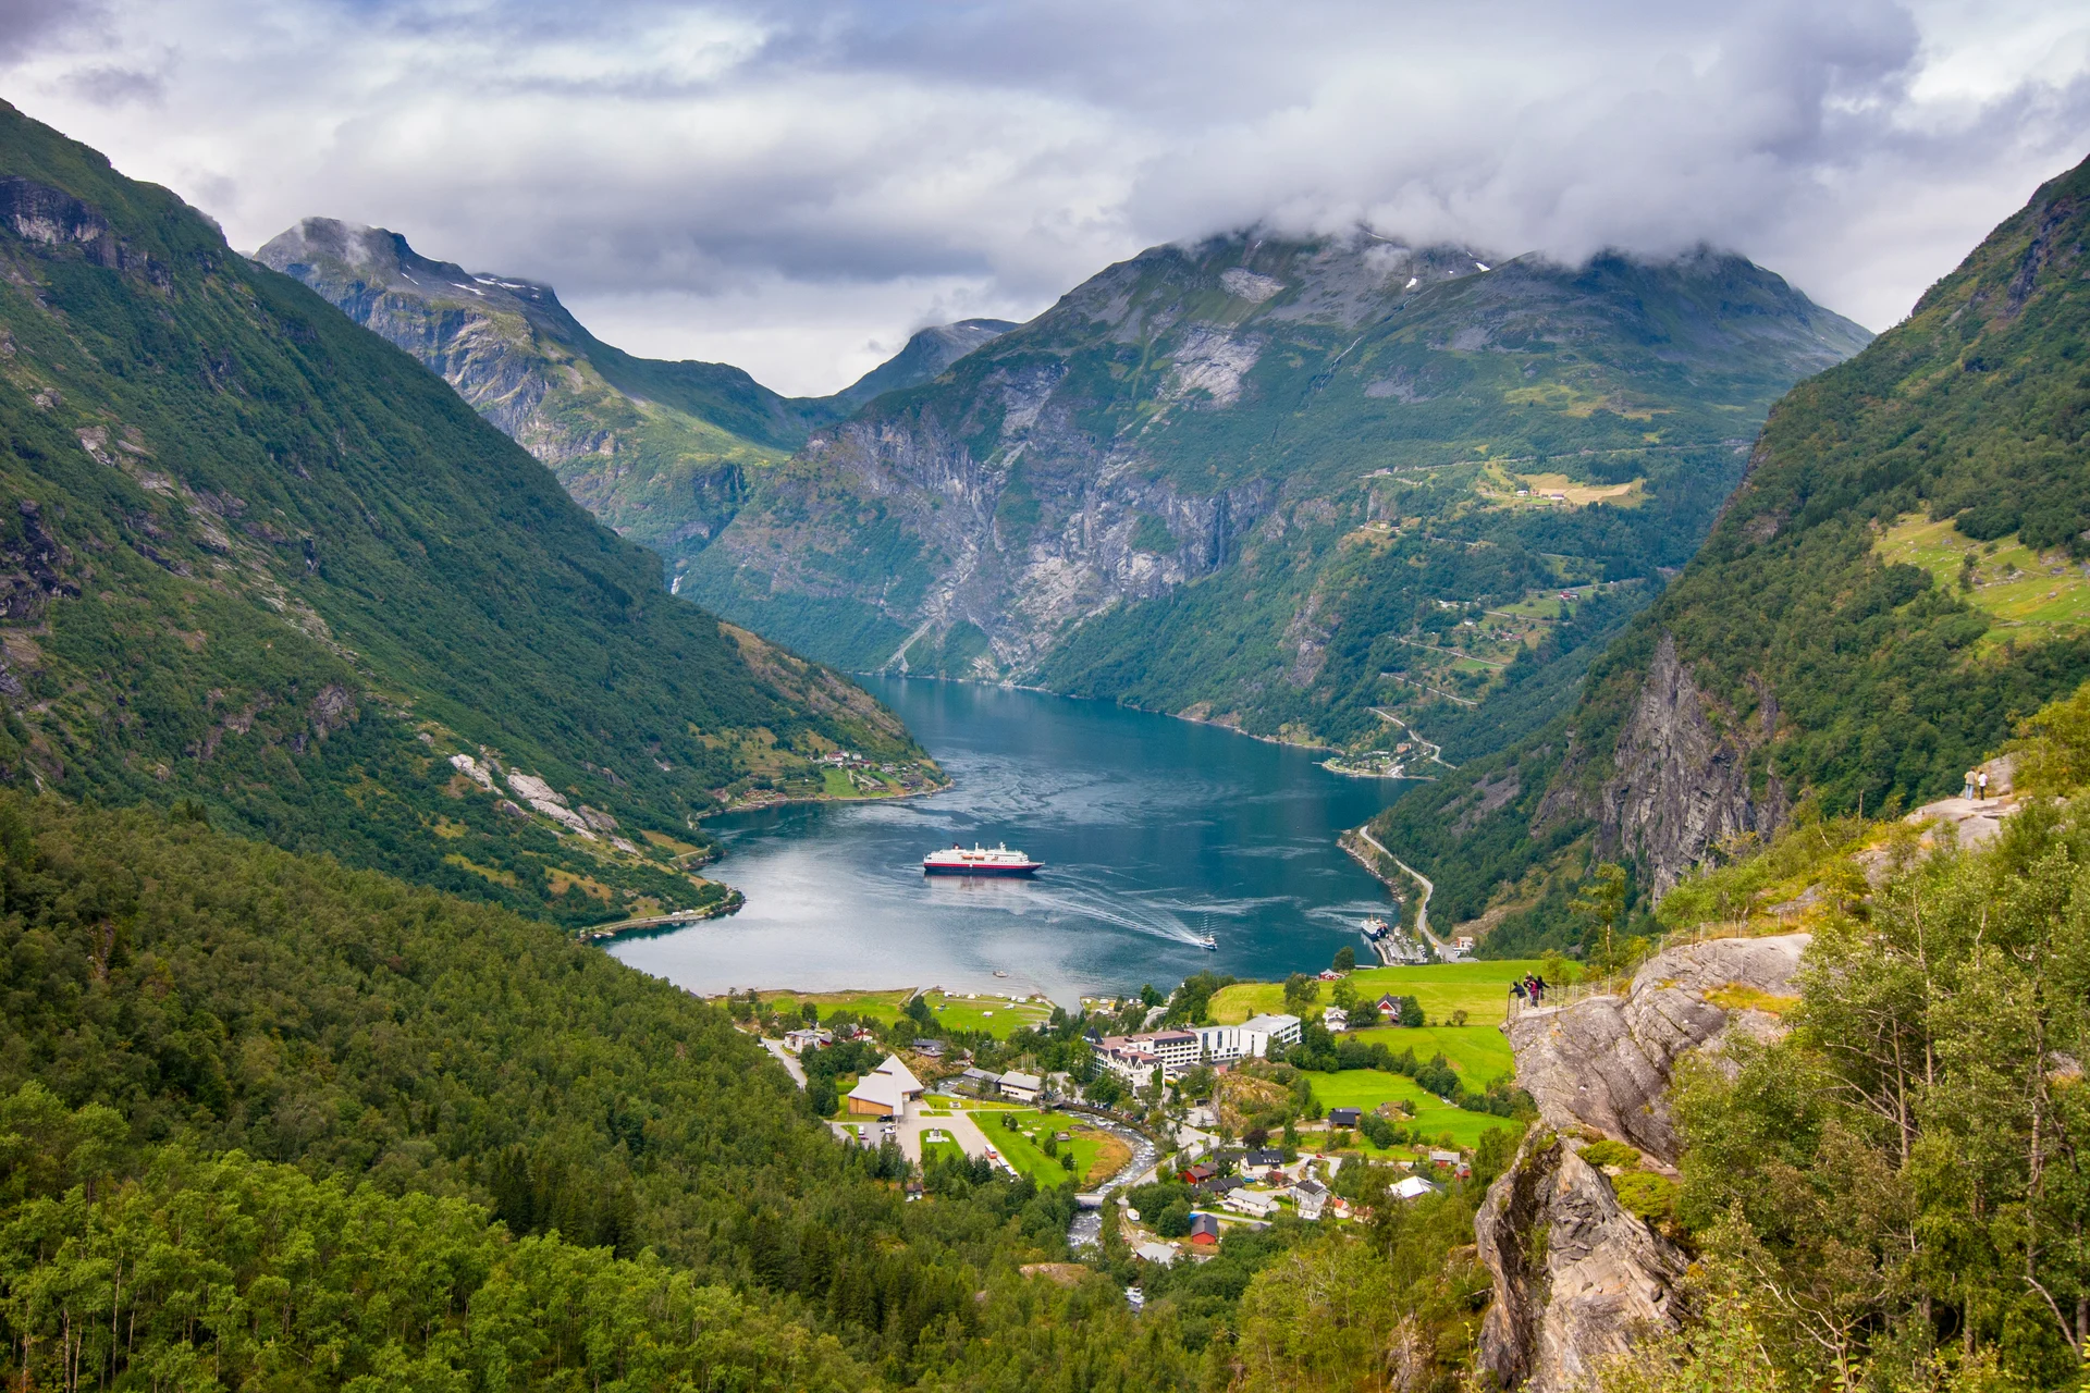
[[[1797,996],[1754,1002],[1770,1042],[1678,1071],[1701,1324],[1605,1393],[2084,1387],[2090,689],[2019,769],[2034,800],[1981,850],[1808,817],[1664,902],[1682,934],[1814,938]]]

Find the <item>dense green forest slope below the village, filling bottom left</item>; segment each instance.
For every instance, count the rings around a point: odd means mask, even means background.
[[[1488,1174],[1026,1276],[1070,1186],[903,1167],[550,925],[0,792],[10,1387],[1448,1391],[1471,1349]]]

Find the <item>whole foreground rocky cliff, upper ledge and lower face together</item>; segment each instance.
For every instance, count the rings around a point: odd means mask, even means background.
[[[1674,1326],[1687,1255],[1620,1201],[1582,1151],[1609,1138],[1674,1170],[1666,1090],[1676,1061],[1735,1032],[1772,1038],[1806,934],[1670,948],[1622,996],[1586,996],[1507,1023],[1538,1126],[1473,1222],[1494,1278],[1482,1362],[1505,1389],[1570,1393],[1605,1355]],[[1616,1170],[1609,1167],[1609,1170]]]

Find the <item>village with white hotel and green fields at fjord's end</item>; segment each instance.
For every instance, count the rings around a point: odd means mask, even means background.
[[[1507,982],[1534,967],[1227,979],[1200,1023],[1168,1023],[1198,979],[1074,1015],[940,988],[725,1005],[909,1199],[995,1172],[1070,1188],[1078,1247],[1172,1266],[1231,1232],[1356,1222],[1463,1182],[1484,1147],[1507,1155],[1528,1105],[1499,1025]]]

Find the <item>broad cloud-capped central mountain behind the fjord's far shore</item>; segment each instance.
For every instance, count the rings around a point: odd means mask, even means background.
[[[1866,338],[1710,251],[1162,246],[817,430],[683,591],[851,668],[1287,739],[1511,687],[1542,718],[1574,683],[1532,679],[1682,566],[1770,401]],[[1570,585],[1595,629],[1559,624]]]

